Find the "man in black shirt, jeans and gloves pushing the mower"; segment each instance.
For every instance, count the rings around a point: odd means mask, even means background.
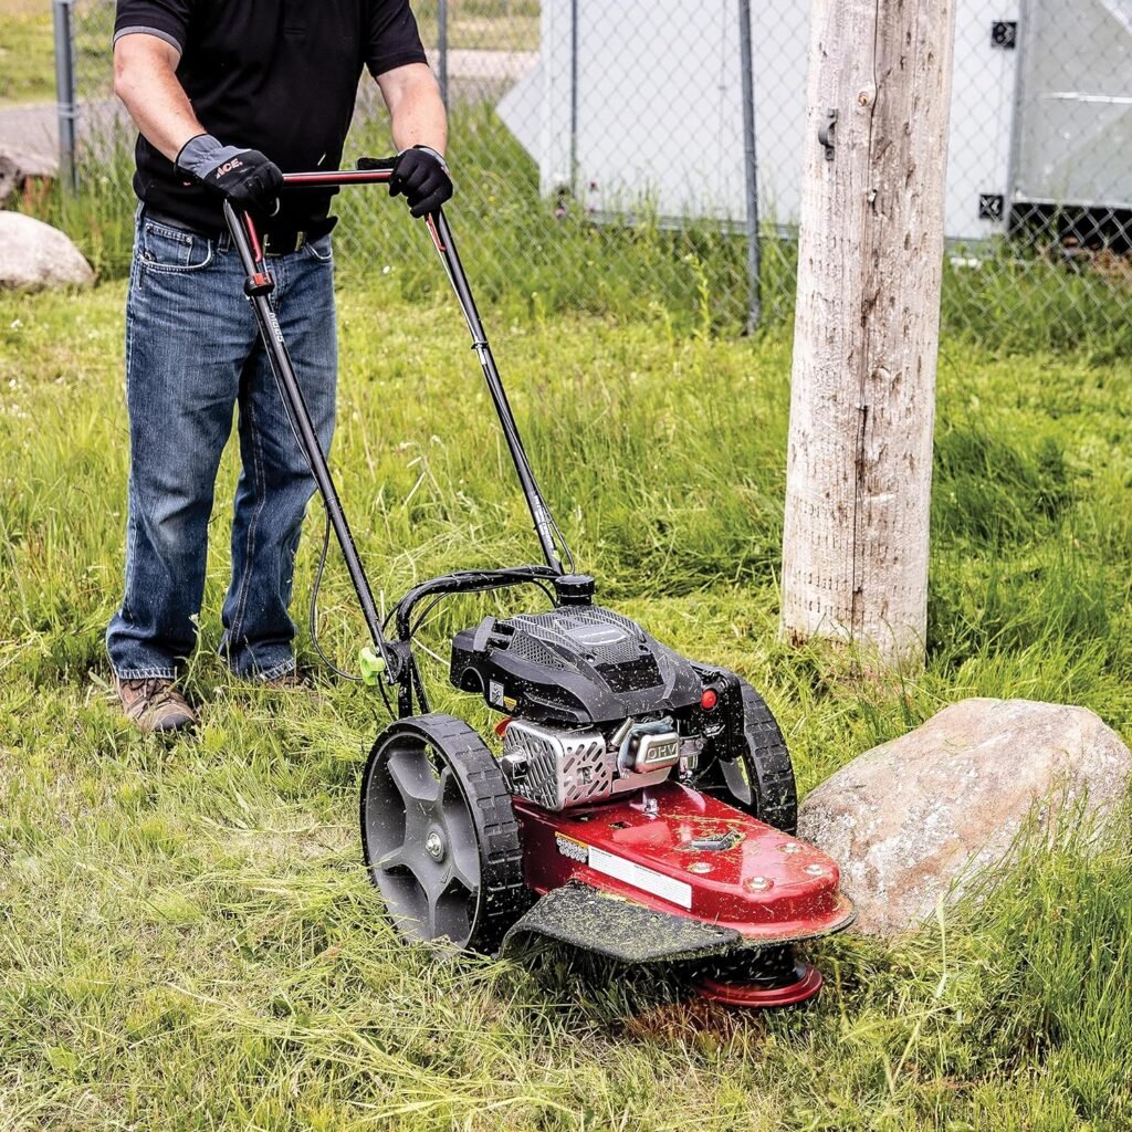
[[[243,299],[223,201],[260,222],[276,315],[325,451],[337,362],[331,194],[285,190],[281,170],[338,168],[363,67],[400,152],[391,192],[423,216],[452,181],[444,106],[408,0],[118,0],[114,91],[140,131],[140,205],[126,311],[126,586],[106,649],[122,707],[145,730],[197,722],[174,680],[196,644],[233,406],[242,472],[221,654],[240,677],[294,680],[288,606],[314,481]]]

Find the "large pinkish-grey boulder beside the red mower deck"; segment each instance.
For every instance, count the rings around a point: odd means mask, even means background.
[[[1130,774],[1132,752],[1084,707],[964,700],[823,782],[798,832],[841,866],[857,927],[892,935],[1001,860],[1031,815],[1049,830],[1081,799],[1109,807]]]

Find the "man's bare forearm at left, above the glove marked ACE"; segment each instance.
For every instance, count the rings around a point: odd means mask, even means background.
[[[177,79],[177,50],[153,35],[123,35],[114,44],[114,94],[145,139],[170,161],[204,134]]]

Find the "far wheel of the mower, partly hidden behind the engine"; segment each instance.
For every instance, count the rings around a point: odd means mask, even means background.
[[[798,832],[798,790],[786,739],[766,701],[746,680],[727,676],[738,685],[741,712],[732,713],[732,734],[712,741],[693,784],[792,835]]]

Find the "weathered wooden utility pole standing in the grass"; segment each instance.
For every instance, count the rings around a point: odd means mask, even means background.
[[[955,0],[815,0],[782,631],[923,663]]]

